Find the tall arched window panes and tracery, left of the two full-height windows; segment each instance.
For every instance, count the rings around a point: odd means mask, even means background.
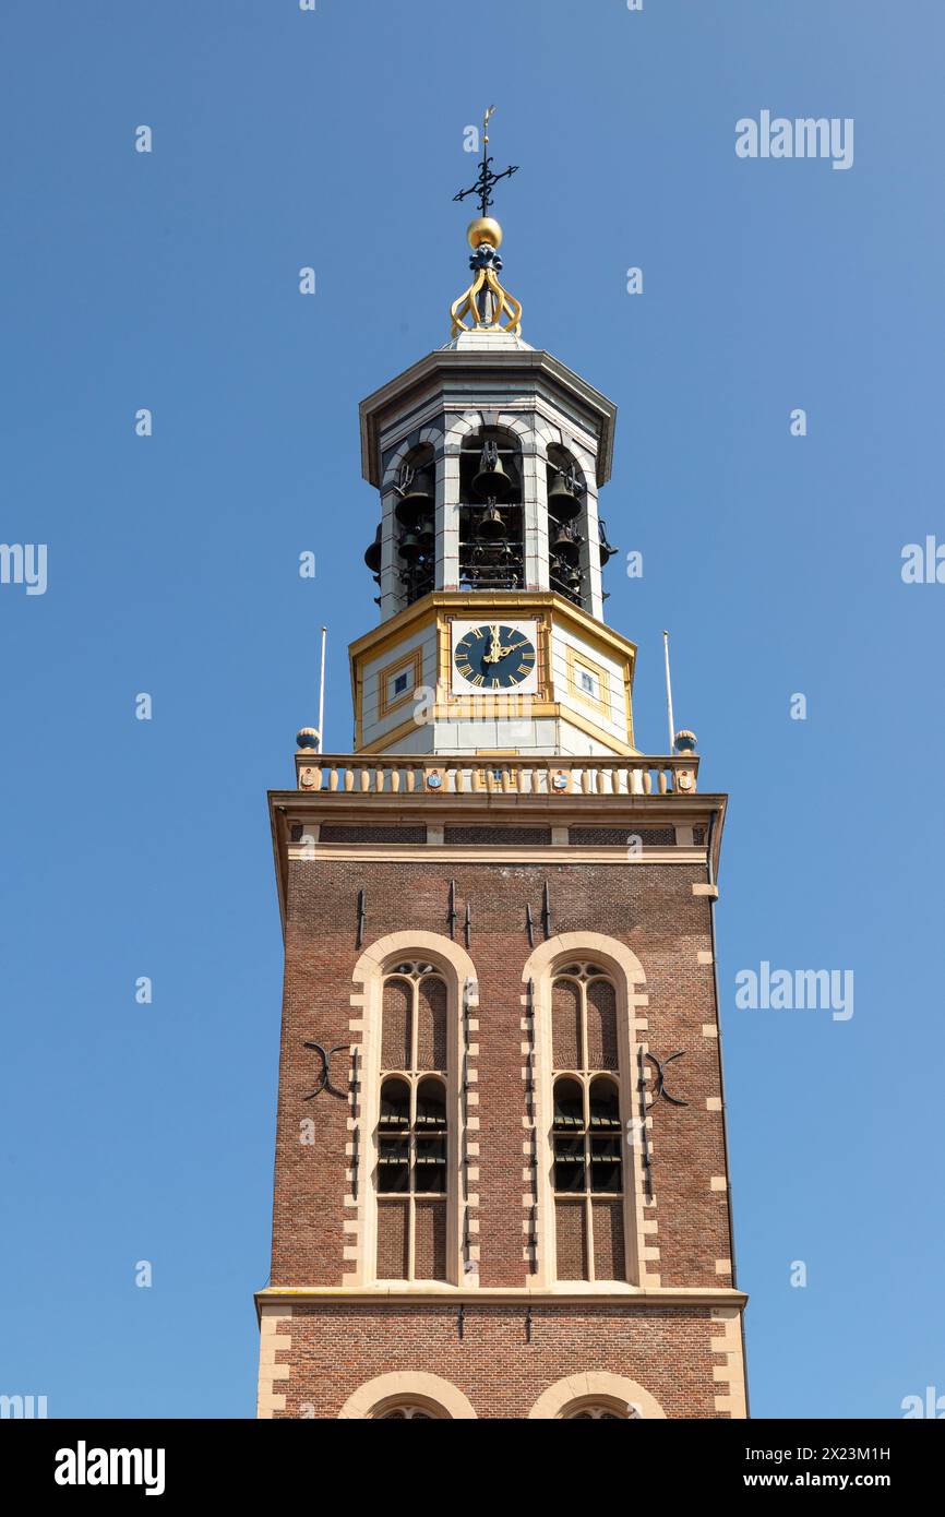
[[[376,1135],[379,1280],[447,1279],[447,988],[419,960],[384,977]]]

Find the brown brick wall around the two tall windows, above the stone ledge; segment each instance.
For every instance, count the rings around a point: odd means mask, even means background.
[[[725,1176],[722,1113],[707,1109],[719,1095],[719,1045],[702,1036],[714,1022],[711,965],[698,962],[710,947],[708,901],[693,897],[704,871],[687,865],[508,865],[429,862],[293,860],[290,863],[285,947],[276,1197],[275,1285],[340,1285],[344,1273],[344,1147],[350,1104],[312,1089],[319,1057],[305,1039],[352,1041],[347,1022],[355,947],[356,897],[367,897],[366,942],[417,928],[446,931],[449,880],[457,881],[460,921],[472,907],[470,956],[479,977],[479,1221],[482,1286],[526,1280],[522,1259],[520,1077],[522,969],[529,954],[525,906],[540,921],[545,880],[551,887],[554,931],[595,930],[623,941],[646,971],[646,1041],[658,1057],[684,1050],[670,1066],[669,1088],[686,1107],[654,1110],[654,1183],[658,1198],[663,1285],[717,1286],[730,1277],[716,1261],[730,1256],[725,1191],[710,1177]],[[355,1039],[356,1041],[356,1039]],[[334,1079],[344,1085],[347,1056],[335,1056]],[[314,1145],[299,1141],[299,1121],[316,1123]],[[367,1177],[363,1176],[363,1183]]]

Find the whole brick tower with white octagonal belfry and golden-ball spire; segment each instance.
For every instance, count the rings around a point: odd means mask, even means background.
[[[725,796],[634,740],[614,407],[469,228],[361,405],[353,754],[270,793],[285,931],[259,1417],[745,1417],[713,907]],[[485,188],[482,185],[485,184]]]

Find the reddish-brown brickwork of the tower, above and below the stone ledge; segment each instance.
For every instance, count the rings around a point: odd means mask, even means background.
[[[639,830],[639,828],[637,828]],[[551,890],[552,934],[595,931],[623,942],[646,972],[648,1030],[642,1036],[658,1056],[683,1050],[667,1069],[684,1107],[658,1103],[652,1113],[654,1192],[658,1220],[660,1288],[717,1289],[731,1276],[717,1262],[731,1253],[728,1238],[725,1153],[719,1109],[719,1041],[708,950],[710,903],[693,895],[704,884],[698,863],[596,862],[501,863],[494,857],[457,862],[429,845],[410,860],[358,860],[322,856],[288,863],[285,994],[282,1018],[276,1180],[273,1206],[273,1286],[341,1286],[350,1279],[344,1258],[352,1233],[346,1170],[350,1156],[350,1100],[322,1091],[312,1100],[319,1057],[303,1042],[344,1045],[332,1062],[332,1082],[347,1088],[352,1033],[352,972],[356,947],[358,892],[366,892],[364,947],[388,933],[417,930],[447,934],[449,883],[455,880],[457,939],[469,903],[469,954],[479,983],[478,1083],[475,1133],[478,1180],[479,1288],[534,1283],[523,1258],[523,1124],[528,1113],[522,1080],[522,972],[531,947],[526,906],[542,942],[545,881]],[[702,960],[702,962],[699,962]],[[393,1030],[391,1030],[393,1036]],[[314,1144],[302,1144],[300,1121],[314,1121]],[[714,1179],[714,1185],[713,1185]],[[721,1182],[721,1183],[719,1183]],[[359,1174],[359,1185],[372,1183]],[[607,1206],[607,1201],[596,1204]],[[384,1208],[387,1211],[387,1208]],[[391,1209],[379,1223],[388,1261],[402,1258],[402,1224]],[[419,1274],[441,1274],[444,1203],[429,1206],[417,1223]],[[560,1277],[581,1276],[581,1236],[569,1253],[560,1229]],[[613,1229],[614,1273],[622,1273],[622,1239]],[[573,1258],[572,1258],[573,1255]],[[390,1262],[396,1276],[396,1264]],[[287,1396],[276,1415],[337,1417],[364,1382],[391,1371],[425,1370],[457,1385],[479,1417],[526,1417],[542,1391],[563,1376],[608,1371],[646,1387],[669,1417],[728,1415],[716,1409],[725,1355],[713,1353],[719,1333],[705,1305],[642,1306],[613,1299],[587,1306],[542,1302],[532,1306],[531,1343],[525,1302],[494,1305],[466,1292],[464,1333],[458,1305],[428,1299],[416,1306],[303,1302],[293,1299],[291,1349],[279,1361],[291,1365],[278,1382]],[[714,1338],[716,1347],[719,1338]]]

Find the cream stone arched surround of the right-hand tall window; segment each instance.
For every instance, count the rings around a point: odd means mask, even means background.
[[[531,1012],[534,1039],[534,1104],[532,1141],[535,1147],[535,1247],[537,1273],[534,1283],[543,1289],[579,1289],[589,1294],[633,1292],[648,1283],[645,1236],[645,1177],[639,1144],[623,1148],[623,1239],[626,1279],[620,1280],[560,1280],[557,1270],[554,1145],[552,1145],[552,981],[561,969],[575,962],[599,965],[613,980],[617,998],[617,1044],[620,1068],[617,1077],[622,1121],[637,1115],[639,1107],[639,1033],[646,1030],[646,974],[637,956],[616,938],[604,933],[560,933],[532,951],[522,978],[531,981]]]

